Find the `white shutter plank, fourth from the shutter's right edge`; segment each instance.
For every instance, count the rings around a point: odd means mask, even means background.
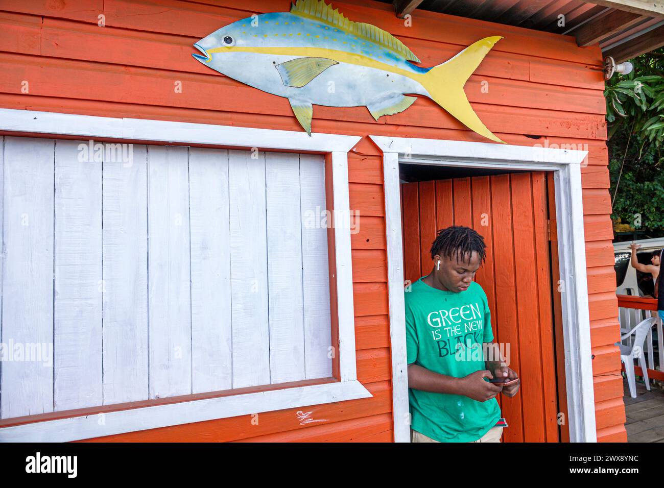
[[[189,149],[193,393],[232,388],[228,151]]]

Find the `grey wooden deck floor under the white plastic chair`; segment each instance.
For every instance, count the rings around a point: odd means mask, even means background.
[[[637,382],[636,398],[629,396],[627,380],[623,379],[627,442],[664,442],[664,391]]]

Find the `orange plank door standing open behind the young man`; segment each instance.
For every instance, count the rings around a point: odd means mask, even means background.
[[[475,281],[487,293],[495,341],[509,345],[509,366],[521,377],[517,396],[498,398],[509,425],[503,442],[559,442],[546,173],[420,181],[401,190],[406,280],[431,272],[438,229],[469,226],[485,239]]]

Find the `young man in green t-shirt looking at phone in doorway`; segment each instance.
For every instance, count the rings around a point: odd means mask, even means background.
[[[486,349],[497,351],[487,295],[473,282],[485,248],[469,227],[440,230],[432,272],[405,293],[412,442],[500,442],[495,397],[514,396],[520,382],[485,379],[517,378],[499,355],[485,357]]]

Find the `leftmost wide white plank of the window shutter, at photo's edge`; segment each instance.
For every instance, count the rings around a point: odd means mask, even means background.
[[[27,354],[3,363],[2,418],[53,410],[53,177],[52,139],[5,137],[2,342]]]

